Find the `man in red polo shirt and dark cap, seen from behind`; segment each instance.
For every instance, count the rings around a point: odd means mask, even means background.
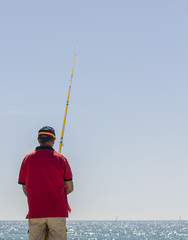
[[[55,131],[38,132],[40,146],[22,162],[18,183],[27,196],[29,239],[66,240],[67,195],[73,191],[72,172],[67,159],[54,151]]]

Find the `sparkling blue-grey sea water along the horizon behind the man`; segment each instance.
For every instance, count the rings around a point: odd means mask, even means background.
[[[188,221],[67,221],[68,240],[188,240]],[[27,221],[0,221],[0,240],[28,240]]]

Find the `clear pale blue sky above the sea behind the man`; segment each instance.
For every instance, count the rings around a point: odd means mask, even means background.
[[[0,219],[24,219],[17,184],[37,132],[74,174],[70,219],[188,219],[188,2],[0,3]]]

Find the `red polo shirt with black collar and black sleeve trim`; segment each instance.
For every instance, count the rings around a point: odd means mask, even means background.
[[[65,181],[72,180],[67,159],[51,147],[37,147],[22,162],[19,184],[26,185],[26,218],[68,217]]]

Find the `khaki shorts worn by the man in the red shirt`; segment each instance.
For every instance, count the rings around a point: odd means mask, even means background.
[[[66,218],[29,219],[29,240],[67,240]]]

